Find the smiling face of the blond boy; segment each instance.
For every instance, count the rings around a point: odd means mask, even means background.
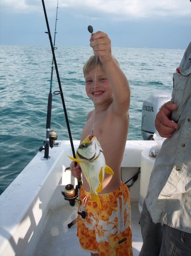
[[[87,96],[95,105],[105,104],[113,100],[113,91],[107,73],[100,65],[92,69],[85,77]]]

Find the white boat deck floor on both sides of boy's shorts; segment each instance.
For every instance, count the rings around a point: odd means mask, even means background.
[[[77,204],[76,204],[77,205]],[[69,217],[68,217],[69,216]],[[133,233],[133,255],[138,256],[142,246],[139,226],[138,202],[131,202],[131,229]],[[35,256],[90,256],[81,249],[77,237],[77,224],[67,227],[77,217],[77,207],[69,204],[50,213],[43,238],[36,247]]]

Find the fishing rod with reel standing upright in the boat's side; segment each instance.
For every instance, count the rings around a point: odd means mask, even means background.
[[[58,16],[58,1],[57,1],[57,10],[56,10],[56,22],[54,29],[54,50],[57,49],[55,47],[56,41],[56,27],[57,27],[57,18]],[[54,70],[54,59],[52,59],[52,68],[51,68],[51,76],[50,76],[50,92],[48,94],[48,107],[47,107],[47,115],[46,115],[46,140],[44,141],[44,148],[40,147],[40,151],[44,150],[44,158],[49,158],[49,145],[51,148],[54,146],[54,142],[57,139],[56,131],[50,131],[50,123],[51,123],[51,113],[52,113],[52,82],[53,82],[53,70]]]

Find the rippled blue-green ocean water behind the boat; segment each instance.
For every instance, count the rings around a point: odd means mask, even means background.
[[[182,49],[113,48],[131,87],[129,140],[142,139],[142,103],[151,93],[171,92]],[[90,47],[58,47],[56,59],[73,140],[79,140],[94,108],[84,90],[82,67]],[[0,194],[43,146],[50,90],[50,47],[0,46]],[[52,92],[59,90],[56,72]],[[60,95],[53,94],[51,129],[69,139]]]

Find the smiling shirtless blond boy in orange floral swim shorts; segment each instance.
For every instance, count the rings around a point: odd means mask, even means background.
[[[87,115],[81,141],[93,131],[114,175],[104,176],[103,190],[99,193],[101,209],[91,201],[90,186],[83,176],[80,210],[86,209],[86,218],[78,216],[77,236],[82,248],[91,251],[91,255],[133,255],[129,190],[121,181],[121,162],[129,127],[129,83],[112,56],[107,34],[101,31],[92,34],[90,46],[95,56],[84,64],[83,72],[86,93],[95,109]],[[70,169],[74,177],[80,177],[79,165],[75,167],[72,162]]]

